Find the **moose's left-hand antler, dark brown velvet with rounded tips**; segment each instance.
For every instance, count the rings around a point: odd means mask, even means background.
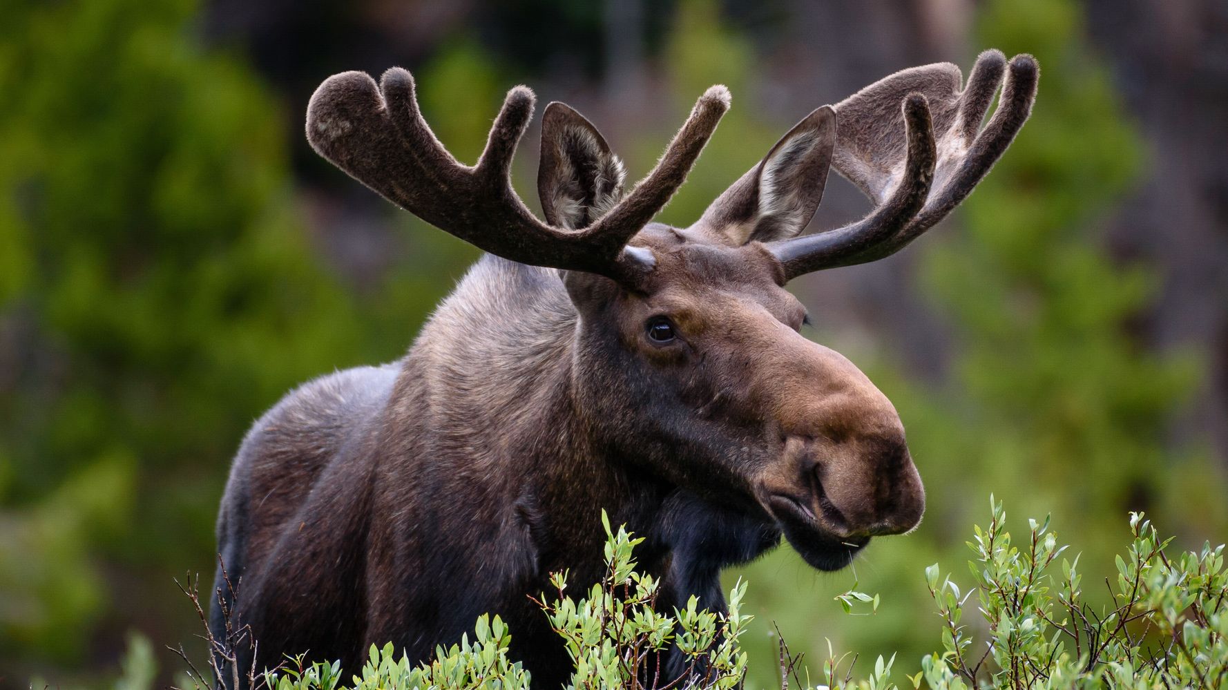
[[[533,104],[529,88],[508,91],[486,149],[470,167],[457,162],[422,119],[408,71],[386,71],[378,87],[366,72],[350,71],[329,77],[312,95],[307,139],[384,199],[491,254],[634,280],[651,269],[652,257],[626,243],[686,178],[729,108],[728,90],[709,88],[652,172],[609,212],[576,231],[542,222],[512,189],[512,155]]]

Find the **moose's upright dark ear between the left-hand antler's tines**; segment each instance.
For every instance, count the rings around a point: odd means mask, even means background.
[[[538,195],[555,227],[586,227],[623,198],[626,171],[597,128],[559,102],[542,118]]]

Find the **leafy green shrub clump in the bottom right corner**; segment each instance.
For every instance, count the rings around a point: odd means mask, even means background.
[[[990,498],[989,529],[975,528],[969,561],[975,588],[937,564],[926,568],[943,619],[943,651],[921,659],[936,690],[965,688],[1223,688],[1228,681],[1228,571],[1224,546],[1203,545],[1170,559],[1142,513],[1117,556],[1117,577],[1104,578],[1113,604],[1086,603],[1078,557],[1066,559],[1049,521],[1028,521],[1023,544],[1006,530],[1002,503]],[[1060,564],[1061,575],[1054,572]],[[976,594],[975,622],[962,624]],[[974,631],[985,637],[974,642]],[[917,684],[915,680],[914,684]]]

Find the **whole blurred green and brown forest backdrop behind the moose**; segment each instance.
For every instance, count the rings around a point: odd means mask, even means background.
[[[462,160],[529,83],[632,178],[727,83],[733,110],[664,214],[688,225],[819,104],[989,47],[1039,59],[1032,122],[955,217],[793,285],[810,335],[896,403],[930,501],[856,575],[787,548],[729,575],[759,616],[749,686],[776,675],[772,621],[814,664],[830,638],[915,670],[938,640],[922,568],[963,572],[991,491],[1020,523],[1051,512],[1086,572],[1111,572],[1127,510],[1228,537],[1221,0],[0,0],[0,686],[97,685],[133,634],[167,680],[165,645],[199,653],[172,578],[212,571],[246,427],[296,383],[399,357],[476,257],[307,146],[307,98],[349,69],[414,70]],[[530,130],[530,205],[535,151]],[[867,207],[833,176],[812,231]],[[833,600],[853,580],[876,615]]]

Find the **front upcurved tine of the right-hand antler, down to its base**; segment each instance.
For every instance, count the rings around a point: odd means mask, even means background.
[[[937,160],[933,123],[926,97],[910,93],[903,103],[907,158],[904,176],[892,195],[865,219],[818,235],[769,242],[768,250],[780,260],[786,280],[823,268],[858,263],[852,257],[872,252],[900,232],[916,216],[930,194]]]

